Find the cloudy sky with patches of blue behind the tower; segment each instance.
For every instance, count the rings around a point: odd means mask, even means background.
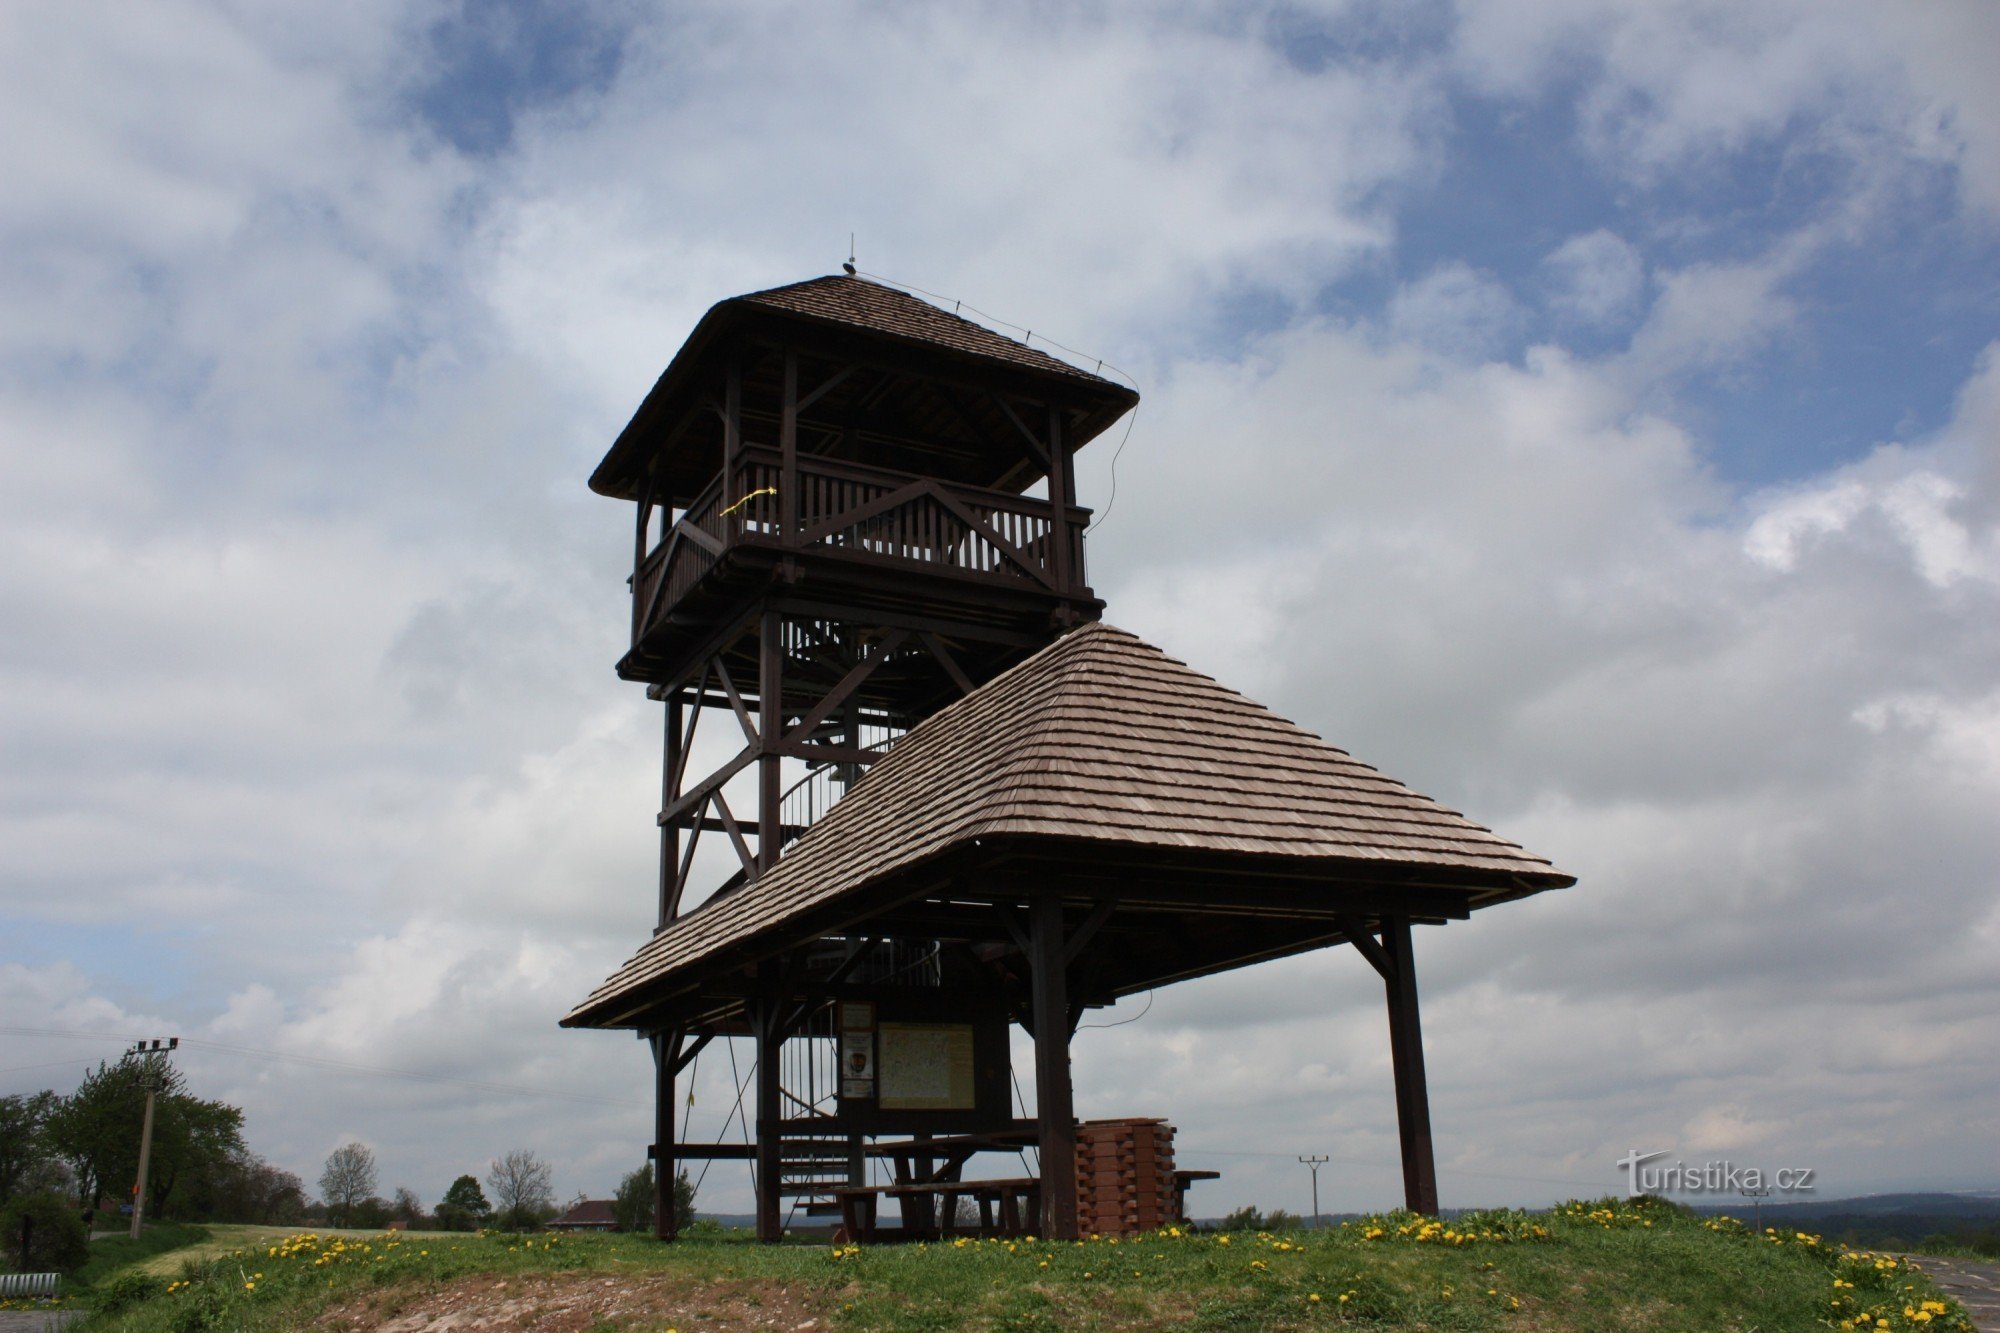
[[[180,1035],[308,1183],[638,1165],[642,1047],[556,1031],[656,847],[584,478],[852,232],[1138,382],[1114,622],[1580,877],[1418,935],[1444,1203],[2000,1187],[1996,60],[1980,0],[6,4],[0,1093]],[[1400,1201],[1350,951],[1120,1019],[1080,1107],[1198,1211]]]

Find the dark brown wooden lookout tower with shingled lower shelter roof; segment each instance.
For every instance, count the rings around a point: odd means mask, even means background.
[[[1406,1203],[1436,1211],[1412,925],[1574,881],[1100,622],[1072,456],[1136,400],[818,278],[714,306],[592,474],[638,506],[618,673],[666,715],[658,923],[564,1025],[652,1045],[662,1235],[688,1157],[750,1157],[776,1239],[868,1155],[940,1181],[1032,1145],[1036,1229],[1074,1237],[1084,1009],[1326,945],[1384,979]],[[704,717],[730,743],[696,773]],[[732,865],[690,885],[704,835]],[[676,1141],[718,1037],[756,1043],[748,1147]]]

